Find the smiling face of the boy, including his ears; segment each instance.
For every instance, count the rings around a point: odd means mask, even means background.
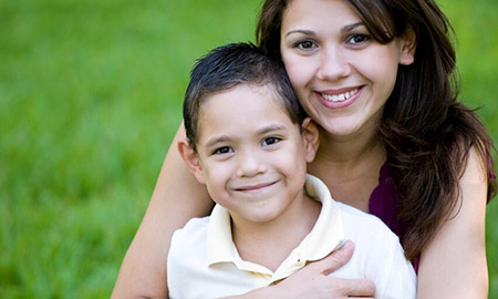
[[[241,84],[210,95],[199,114],[196,177],[242,221],[284,214],[302,197],[307,162],[314,158],[307,135],[317,130],[301,134],[276,96],[268,86]]]

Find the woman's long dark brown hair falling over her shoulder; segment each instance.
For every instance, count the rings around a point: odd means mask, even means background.
[[[267,0],[258,27],[258,44],[280,58],[280,29],[291,0]],[[360,16],[372,38],[388,43],[413,30],[413,64],[400,65],[386,102],[380,135],[400,198],[401,236],[413,259],[440,225],[459,210],[459,178],[470,148],[488,165],[488,200],[496,193],[491,176],[492,140],[476,113],[457,101],[453,29],[433,0],[344,0]]]

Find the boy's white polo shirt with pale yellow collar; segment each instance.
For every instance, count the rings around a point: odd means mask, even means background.
[[[328,187],[308,175],[304,190],[322,203],[320,216],[301,244],[273,272],[240,258],[231,239],[230,215],[216,205],[210,217],[194,218],[175,231],[167,259],[170,298],[218,298],[248,292],[284,279],[319,260],[344,239],[354,243],[350,261],[331,276],[367,278],[375,298],[415,298],[416,275],[398,238],[373,215],[332,199]],[[271,254],[271,252],[270,252]]]

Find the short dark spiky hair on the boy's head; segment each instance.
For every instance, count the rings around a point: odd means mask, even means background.
[[[204,100],[239,84],[268,85],[273,90],[276,99],[283,104],[292,123],[301,125],[305,114],[283,64],[251,43],[230,43],[200,58],[190,72],[184,100],[184,122],[194,151],[197,151],[198,121]]]

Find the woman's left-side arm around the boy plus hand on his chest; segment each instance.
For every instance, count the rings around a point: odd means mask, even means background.
[[[197,183],[176,150],[181,138],[185,138],[183,125],[169,146],[151,204],[121,266],[112,298],[167,298],[166,258],[173,233],[191,217],[208,215],[212,208],[205,186]],[[255,290],[240,298],[260,298],[261,295],[286,298],[299,292],[319,295],[324,291],[338,298],[347,295],[371,298],[375,286],[370,280],[325,276],[347,262],[353,244],[346,245],[279,286]]]

